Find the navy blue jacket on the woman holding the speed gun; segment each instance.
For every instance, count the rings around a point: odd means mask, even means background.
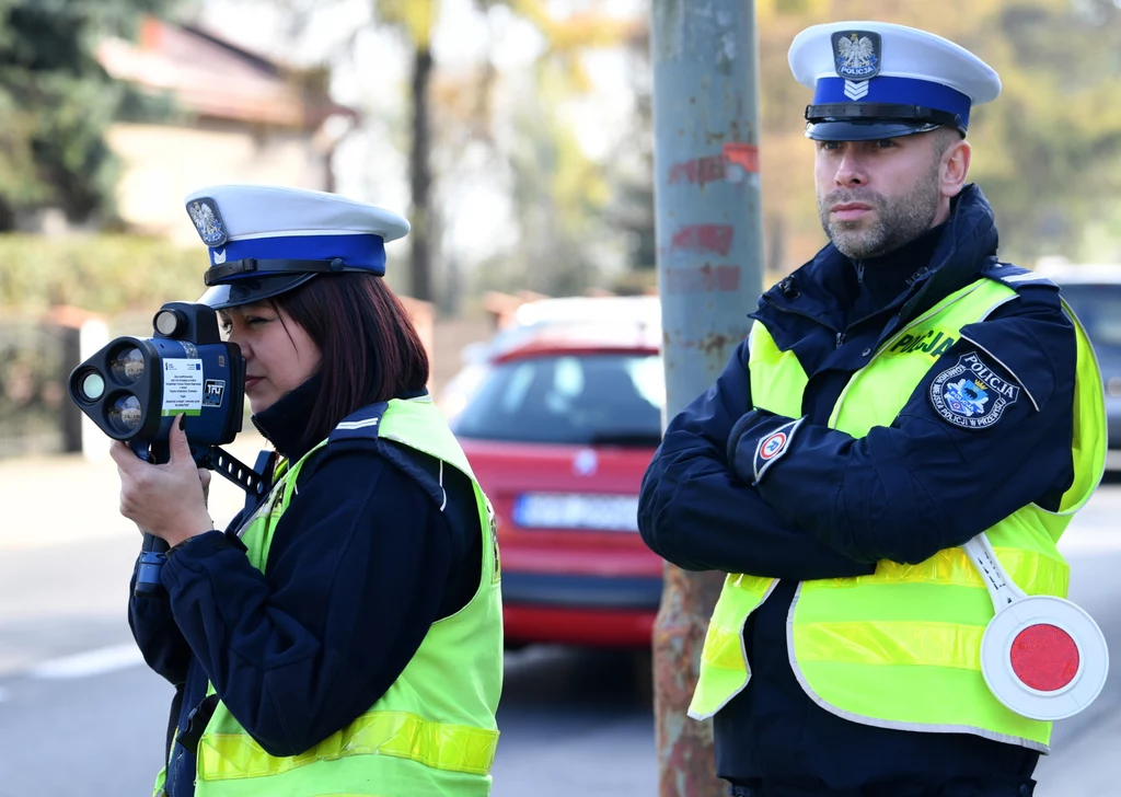
[[[313,378],[254,417],[294,462],[307,451],[298,441],[317,389]],[[466,605],[479,584],[471,484],[445,469],[442,512],[414,478],[437,467],[385,441],[333,442],[300,471],[263,574],[233,534],[240,516],[229,534],[210,531],[168,557],[167,594],[131,597],[129,622],[145,660],[177,687],[180,736],[207,680],[272,756],[304,752],[373,705],[433,621]],[[170,797],[191,797],[194,776],[194,745],[170,745]]]

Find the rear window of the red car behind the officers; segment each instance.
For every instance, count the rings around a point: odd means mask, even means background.
[[[656,354],[557,354],[489,370],[453,420],[491,441],[656,446],[665,381]]]

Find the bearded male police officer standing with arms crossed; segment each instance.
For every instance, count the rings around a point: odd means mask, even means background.
[[[995,257],[963,140],[997,74],[930,34],[812,27],[827,244],[763,294],[749,341],[669,424],[647,545],[731,573],[689,713],[752,797],[1030,795],[1050,724],[986,689],[986,531],[1028,593],[1103,467],[1094,358],[1057,288]]]

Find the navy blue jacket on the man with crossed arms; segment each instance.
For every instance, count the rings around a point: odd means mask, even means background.
[[[798,581],[871,573],[879,559],[921,562],[1032,501],[1054,509],[1071,485],[1075,337],[1046,281],[1017,284],[1015,299],[958,339],[927,342],[932,370],[890,426],[860,439],[827,427],[851,374],[908,319],[980,275],[1020,272],[995,250],[992,211],[975,186],[948,222],[882,258],[852,262],[827,245],[751,314],[809,376],[802,423],[752,409],[743,342],[668,425],[642,481],[647,545],[686,569],[781,580],[744,631],[752,678],[715,717],[721,777],[768,796],[1030,785],[1037,754],[1026,749],[826,712],[798,686],[786,649]],[[952,423],[932,400],[937,374],[972,353],[1020,388],[983,429]],[[761,470],[758,444],[782,427],[793,435]]]

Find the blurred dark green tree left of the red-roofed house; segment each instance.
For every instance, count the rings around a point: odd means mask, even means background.
[[[0,0],[0,231],[43,207],[82,222],[112,207],[104,131],[129,90],[98,64],[101,35],[129,36],[172,0]]]

